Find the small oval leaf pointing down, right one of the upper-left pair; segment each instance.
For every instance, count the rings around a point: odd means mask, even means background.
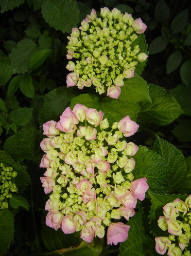
[[[29,74],[24,74],[22,79],[20,80],[19,87],[21,92],[29,98],[34,98],[35,97],[35,89],[32,84],[33,79],[31,75]]]

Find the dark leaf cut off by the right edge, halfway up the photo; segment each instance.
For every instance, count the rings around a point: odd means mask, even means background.
[[[179,84],[169,92],[177,100],[185,115],[191,116],[191,86]]]

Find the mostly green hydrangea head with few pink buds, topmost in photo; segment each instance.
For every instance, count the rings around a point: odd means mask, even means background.
[[[100,95],[118,98],[124,78],[132,78],[139,62],[148,58],[140,53],[139,45],[132,42],[143,33],[147,26],[139,18],[134,20],[131,14],[121,14],[114,8],[101,9],[101,18],[97,18],[92,9],[90,15],[81,22],[81,27],[73,28],[68,43],[67,87],[79,89],[95,86]]]

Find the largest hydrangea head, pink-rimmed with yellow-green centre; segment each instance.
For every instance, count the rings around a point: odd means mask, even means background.
[[[110,129],[103,116],[76,104],[58,122],[44,123],[48,138],[40,143],[46,153],[40,167],[47,170],[40,179],[45,193],[51,193],[45,206],[48,226],[65,234],[81,231],[87,242],[102,238],[108,226],[107,243],[116,245],[126,240],[130,226],[112,220],[134,216],[148,185],[146,178],[132,181],[138,146],[124,139],[139,125],[127,116]]]

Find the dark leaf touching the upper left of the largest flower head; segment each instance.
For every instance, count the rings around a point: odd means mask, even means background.
[[[44,105],[39,110],[38,121],[40,124],[49,120],[58,121],[71,98],[74,97],[72,89],[66,87],[57,88],[44,96]]]

